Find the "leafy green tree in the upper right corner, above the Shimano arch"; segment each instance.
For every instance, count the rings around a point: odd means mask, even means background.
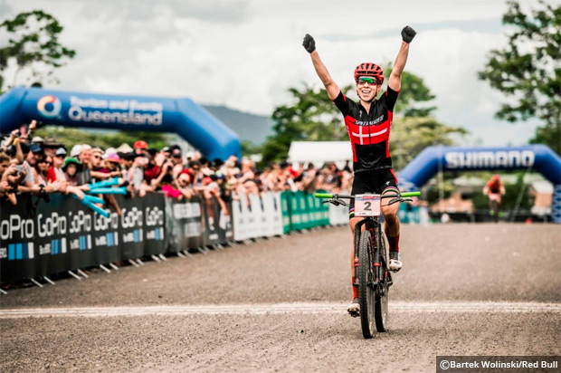
[[[508,2],[502,22],[509,26],[509,43],[491,51],[479,77],[508,98],[497,118],[542,120],[531,142],[545,143],[561,154],[561,5],[544,0],[538,4],[525,14],[518,2]]]

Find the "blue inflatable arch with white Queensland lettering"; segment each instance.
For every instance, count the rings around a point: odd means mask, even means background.
[[[63,127],[174,132],[206,158],[241,156],[232,129],[189,99],[14,88],[0,96],[0,132],[31,120]]]

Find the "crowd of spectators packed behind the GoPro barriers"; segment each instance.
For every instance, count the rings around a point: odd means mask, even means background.
[[[318,189],[339,192],[352,185],[348,165],[339,169],[334,163],[315,167],[311,163],[273,162],[257,168],[250,158],[209,160],[198,151],[184,153],[177,145],[149,148],[144,140],[136,141],[132,151],[125,153],[90,144],[69,149],[53,137],[33,137],[35,127],[32,121],[24,136],[19,129],[14,130],[0,149],[0,198],[14,205],[18,193],[31,193],[46,200],[49,194],[64,193],[81,199],[90,183],[110,177],[119,178],[128,197],[154,192],[177,199],[214,197],[221,206],[242,193],[311,193]],[[105,198],[120,214],[115,198]]]

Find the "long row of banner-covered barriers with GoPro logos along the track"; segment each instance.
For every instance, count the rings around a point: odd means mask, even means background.
[[[302,192],[240,195],[226,211],[214,199],[116,198],[122,214],[107,218],[62,195],[1,201],[0,282],[348,221],[346,207]]]

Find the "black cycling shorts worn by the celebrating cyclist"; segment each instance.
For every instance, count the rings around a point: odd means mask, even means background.
[[[369,171],[357,172],[353,180],[351,194],[362,195],[365,193],[376,193],[383,195],[386,192],[399,193],[397,177],[392,168],[379,168]],[[355,217],[355,200],[350,200],[348,206],[348,218]]]

